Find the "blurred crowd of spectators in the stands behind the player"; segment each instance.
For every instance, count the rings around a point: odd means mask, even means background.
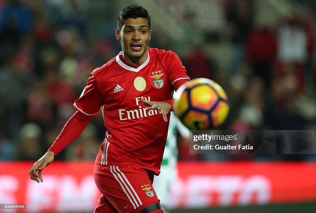
[[[221,39],[214,30],[196,32],[203,34],[201,42],[190,51],[174,52],[191,79],[213,79],[227,92],[230,114],[222,128],[315,129],[316,4],[296,1],[301,9],[271,26],[256,21],[255,1],[217,2],[222,4],[224,27],[231,29],[231,55],[227,55],[232,57],[231,69],[221,70],[215,57],[204,52],[205,45]],[[90,72],[121,50],[112,21],[99,20],[105,27],[89,31],[91,4],[0,1],[0,160],[38,160],[75,112],[73,102]],[[194,16],[191,11],[182,18]],[[99,39],[91,39],[96,37],[91,34],[100,34]],[[155,38],[149,47],[173,50],[172,42],[162,44]],[[97,115],[56,159],[94,160],[104,132]],[[179,160],[225,159],[189,155],[187,144],[179,141]]]

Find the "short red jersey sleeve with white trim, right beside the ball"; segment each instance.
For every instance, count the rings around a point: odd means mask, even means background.
[[[186,75],[185,67],[183,66],[181,60],[179,59],[176,53],[169,53],[168,57],[168,70],[169,70],[169,81],[171,86],[179,80],[190,80],[190,78]]]

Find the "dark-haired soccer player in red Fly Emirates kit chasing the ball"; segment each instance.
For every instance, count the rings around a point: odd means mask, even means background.
[[[75,114],[30,169],[43,182],[42,170],[80,135],[99,110],[107,129],[94,164],[94,180],[102,195],[94,212],[163,212],[155,189],[166,143],[173,90],[189,80],[179,57],[148,48],[150,17],[141,6],[124,8],[116,38],[122,51],[91,72],[75,101]]]

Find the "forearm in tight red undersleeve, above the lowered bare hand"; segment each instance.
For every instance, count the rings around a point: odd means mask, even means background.
[[[48,151],[54,152],[56,156],[82,133],[91,119],[92,116],[83,115],[76,111],[75,114],[67,121]]]

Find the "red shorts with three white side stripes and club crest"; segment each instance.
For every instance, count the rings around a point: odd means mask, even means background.
[[[94,164],[94,181],[102,193],[94,212],[163,212],[153,180],[154,174],[140,167]]]

